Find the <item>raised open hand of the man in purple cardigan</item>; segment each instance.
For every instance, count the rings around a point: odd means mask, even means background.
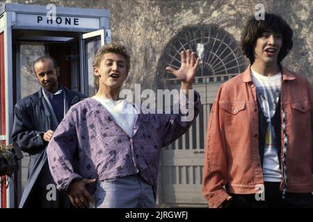
[[[185,52],[180,53],[180,62],[181,66],[178,70],[173,69],[172,67],[166,67],[166,71],[169,71],[171,74],[176,76],[182,83],[182,89],[191,89],[193,83],[193,78],[195,77],[195,69],[197,69],[200,58],[197,58],[195,61],[195,53],[191,53],[188,49]]]

